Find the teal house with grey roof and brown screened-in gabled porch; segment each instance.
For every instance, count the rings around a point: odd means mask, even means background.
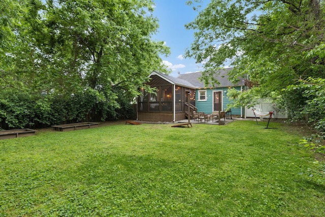
[[[244,80],[238,84],[232,84],[228,79],[231,69],[222,69],[217,76],[220,85],[217,87],[205,87],[199,80],[202,73],[188,73],[177,78],[152,72],[147,83],[155,87],[156,91],[149,93],[141,89],[142,95],[138,98],[138,120],[172,122],[186,118],[188,100],[190,109],[206,114],[225,110],[231,102],[226,97],[229,88],[242,90]],[[189,98],[189,99],[188,99]],[[232,108],[232,115],[243,115],[243,108]]]

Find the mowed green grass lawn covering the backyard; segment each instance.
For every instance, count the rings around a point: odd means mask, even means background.
[[[302,135],[271,122],[0,140],[0,216],[325,216]]]

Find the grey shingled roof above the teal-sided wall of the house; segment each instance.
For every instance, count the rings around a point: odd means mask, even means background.
[[[237,84],[233,84],[229,81],[228,73],[233,68],[226,68],[226,69],[220,69],[216,73],[216,79],[220,82],[220,84],[217,87],[228,87],[228,86],[244,86],[245,81],[244,79],[240,79],[240,81]],[[202,76],[202,72],[194,72],[194,73],[187,73],[187,74],[181,74],[178,76],[179,79],[188,81],[192,85],[194,85],[196,88],[205,88],[204,81],[200,81],[200,77]],[[209,85],[211,87],[212,85]]]

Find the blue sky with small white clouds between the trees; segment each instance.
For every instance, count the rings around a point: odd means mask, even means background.
[[[185,4],[186,0],[154,0],[153,15],[159,20],[158,33],[152,40],[164,41],[170,47],[169,57],[161,56],[165,65],[172,70],[171,76],[202,71],[202,65],[195,59],[183,58],[185,49],[194,41],[194,31],[185,29],[185,24],[193,21],[199,12]],[[209,1],[204,0],[204,3]]]

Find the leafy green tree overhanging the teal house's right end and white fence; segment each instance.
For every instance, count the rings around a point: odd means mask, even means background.
[[[322,0],[212,0],[186,25],[197,30],[186,54],[204,62],[207,82],[225,64],[234,66],[232,81],[247,74],[255,85],[238,100],[272,96],[285,105],[283,88],[325,78],[324,9]]]

